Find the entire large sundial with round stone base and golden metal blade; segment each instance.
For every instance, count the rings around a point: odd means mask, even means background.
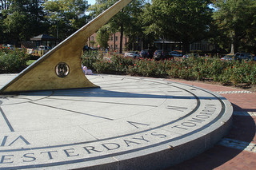
[[[22,73],[0,75],[0,169],[161,169],[226,134],[232,106],[206,89],[84,76],[74,44],[128,2],[117,2]]]

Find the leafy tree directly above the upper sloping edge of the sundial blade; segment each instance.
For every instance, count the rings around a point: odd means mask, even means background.
[[[73,34],[89,22],[85,14],[89,5],[86,0],[55,0],[45,4],[50,21],[50,33],[60,39]],[[57,36],[58,33],[58,36]]]

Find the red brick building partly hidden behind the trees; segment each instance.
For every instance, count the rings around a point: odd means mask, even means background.
[[[98,43],[96,41],[96,36],[97,36],[97,33],[92,34],[90,36],[90,38],[88,38],[88,41],[87,41],[87,45],[91,48],[94,48],[94,49],[98,48]],[[108,42],[109,50],[119,51],[120,50],[120,40],[121,40],[120,32],[117,32],[115,34],[110,35],[110,39],[109,39],[109,42]],[[127,42],[128,42],[128,38],[126,37],[126,35],[123,35],[122,50],[126,50]]]

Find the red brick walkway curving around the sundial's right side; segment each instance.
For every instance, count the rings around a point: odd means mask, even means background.
[[[194,81],[170,81],[195,85],[226,97],[234,108],[234,122],[229,134],[220,143],[215,144],[214,148],[166,170],[255,170],[256,93]]]

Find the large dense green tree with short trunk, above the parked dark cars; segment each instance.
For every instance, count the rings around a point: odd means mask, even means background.
[[[146,34],[182,42],[186,53],[190,43],[202,40],[209,30],[212,13],[209,4],[207,0],[152,0],[143,14]]]

